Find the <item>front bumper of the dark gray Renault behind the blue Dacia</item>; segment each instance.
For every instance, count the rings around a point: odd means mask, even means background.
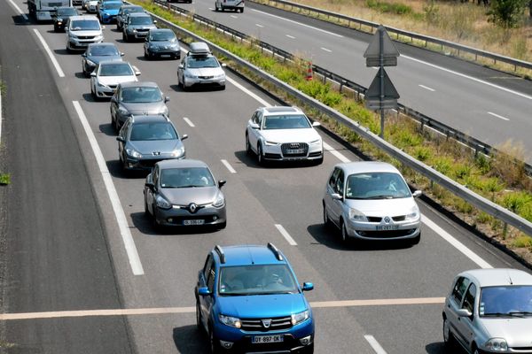
[[[177,208],[176,206],[168,210],[156,207],[155,219],[162,226],[216,226],[226,222],[225,205],[220,208],[207,205],[194,213],[186,209]]]

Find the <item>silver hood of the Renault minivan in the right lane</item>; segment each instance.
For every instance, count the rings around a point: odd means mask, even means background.
[[[410,196],[397,199],[346,199],[346,204],[368,216],[393,217],[410,213],[416,202]]]

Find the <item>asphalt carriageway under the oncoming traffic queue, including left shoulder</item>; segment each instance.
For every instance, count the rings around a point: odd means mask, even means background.
[[[419,245],[342,245],[322,224],[321,197],[332,166],[358,159],[353,150],[321,132],[323,165],[257,165],[244,150],[246,121],[281,103],[231,72],[223,91],[184,92],[177,61],[145,61],[142,43],[107,26],[106,42],[170,97],[187,157],[227,181],[225,229],[156,233],[145,174],[118,163],[109,103],[93,102],[80,55],[50,24],[25,20],[24,5],[0,3],[0,165],[12,174],[0,189],[5,352],[207,352],[192,290],[215,244],[274,242],[299,281],[314,282],[317,353],[442,353],[442,297],[455,274],[523,268],[422,201]]]

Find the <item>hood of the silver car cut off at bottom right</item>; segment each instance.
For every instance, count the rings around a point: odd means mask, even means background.
[[[481,324],[486,328],[490,338],[505,338],[510,348],[530,347],[532,338],[532,318],[512,319],[481,319]]]

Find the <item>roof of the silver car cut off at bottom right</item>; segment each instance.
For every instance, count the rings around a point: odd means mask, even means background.
[[[460,275],[474,278],[481,288],[501,285],[532,285],[531,274],[512,268],[473,269],[459,273],[458,276]]]

